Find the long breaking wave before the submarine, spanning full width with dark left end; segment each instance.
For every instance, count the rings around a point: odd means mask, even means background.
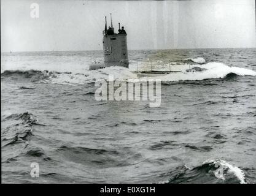
[[[203,62],[203,58],[197,58],[195,61]],[[225,78],[232,75],[256,76],[256,72],[254,70],[241,67],[230,67],[219,62],[176,65],[171,69],[180,70],[180,72],[164,75],[144,75],[142,78],[159,78],[161,81],[195,81],[212,78]],[[1,78],[14,78],[15,80],[29,79],[34,83],[83,85],[85,83],[94,83],[101,79],[108,80],[109,74],[113,74],[115,80],[138,78],[138,74],[135,71],[125,67],[107,67],[100,70],[83,70],[80,73],[49,72],[48,70],[6,70],[1,74]]]

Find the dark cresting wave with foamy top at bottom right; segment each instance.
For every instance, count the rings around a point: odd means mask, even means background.
[[[248,183],[241,168],[221,159],[206,160],[194,168],[188,168],[185,165],[180,166],[171,171],[169,176],[168,181],[163,183]]]

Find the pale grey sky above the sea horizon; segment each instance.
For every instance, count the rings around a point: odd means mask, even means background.
[[[129,50],[256,47],[254,0],[1,0],[1,51],[102,50],[110,13]]]

